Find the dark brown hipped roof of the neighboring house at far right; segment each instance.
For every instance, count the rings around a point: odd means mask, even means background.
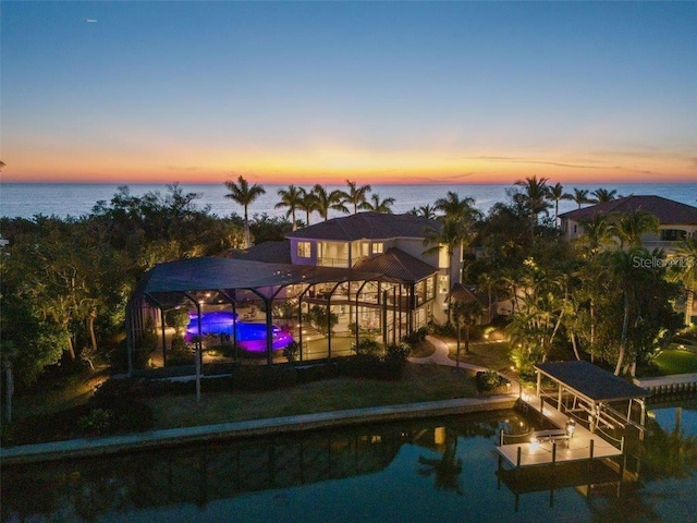
[[[592,219],[598,214],[623,214],[635,210],[645,210],[652,214],[662,224],[697,224],[697,207],[673,202],[661,196],[626,196],[583,209],[571,210],[559,215],[559,217],[574,221],[585,221]]]

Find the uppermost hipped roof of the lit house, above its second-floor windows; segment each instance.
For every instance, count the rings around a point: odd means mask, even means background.
[[[390,238],[424,238],[428,228],[440,229],[441,223],[412,214],[392,215],[358,212],[315,223],[285,235],[303,240],[388,240]]]

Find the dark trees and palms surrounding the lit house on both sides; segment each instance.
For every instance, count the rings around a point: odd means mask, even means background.
[[[413,209],[443,223],[425,231],[425,251],[439,244],[451,252],[468,247],[463,282],[517,296],[506,329],[512,358],[523,373],[563,350],[607,362],[616,373],[648,363],[682,326],[672,303],[685,282],[694,283],[694,273],[684,271],[681,279],[664,265],[636,263],[664,257],[640,246],[640,234],[658,226],[649,215],[599,219],[587,224],[579,241],[567,242],[557,227],[560,199],[580,206],[615,195],[604,190],[567,195],[560,184],[547,182],[516,183],[486,216],[472,198],[452,192]],[[2,356],[17,385],[30,386],[59,363],[63,368],[74,368],[74,362],[121,364],[126,301],[156,264],[281,240],[314,212],[322,219],[330,209],[389,212],[393,204],[355,182],[330,193],[321,185],[289,185],[279,191],[277,205],[286,209],[286,218],[249,219],[248,206],[264,188],[242,177],[225,185],[233,200],[228,217],[212,215],[197,205],[200,195],[172,184],[164,193],[143,196],[122,186],[82,217],[1,219],[0,232],[9,241],[0,257]],[[234,212],[240,206],[242,217]],[[694,241],[686,241],[687,254],[690,247],[694,256]],[[453,307],[452,321],[467,323],[467,317],[472,312]]]

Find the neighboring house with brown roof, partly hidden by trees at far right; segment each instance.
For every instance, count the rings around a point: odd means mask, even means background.
[[[697,238],[697,207],[660,196],[626,196],[564,212],[559,218],[566,239],[574,240],[584,233],[584,222],[597,215],[613,217],[637,210],[649,212],[659,220],[658,232],[643,238],[643,245],[648,250],[660,247],[670,252],[685,238]]]

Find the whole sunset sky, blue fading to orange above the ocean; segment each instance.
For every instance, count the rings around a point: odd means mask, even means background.
[[[3,182],[697,180],[697,2],[2,2]]]

